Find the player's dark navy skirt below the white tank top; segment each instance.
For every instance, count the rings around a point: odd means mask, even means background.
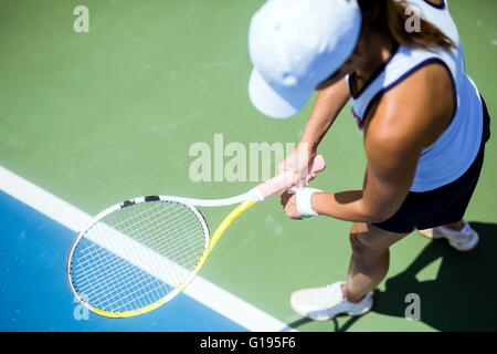
[[[406,233],[453,223],[463,219],[482,171],[485,144],[490,138],[490,116],[483,101],[484,129],[478,155],[463,176],[440,188],[410,191],[400,209],[388,220],[373,223],[391,232]]]

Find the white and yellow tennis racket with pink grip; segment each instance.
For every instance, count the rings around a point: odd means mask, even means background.
[[[320,155],[309,164],[325,169]],[[66,273],[76,299],[107,317],[150,312],[179,294],[199,272],[230,223],[256,202],[292,186],[292,171],[225,199],[148,196],[99,212],[71,246]],[[212,238],[197,207],[240,204]]]

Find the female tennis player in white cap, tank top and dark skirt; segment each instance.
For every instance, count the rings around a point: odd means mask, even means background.
[[[295,311],[314,320],[368,312],[390,246],[415,229],[459,251],[475,247],[478,235],[463,216],[489,117],[446,1],[269,0],[251,21],[248,45],[250,97],[262,113],[292,116],[318,91],[296,150],[281,165],[296,186],[350,98],[363,132],[362,190],[305,187],[281,197],[289,218],[353,222],[347,281],[293,293]]]

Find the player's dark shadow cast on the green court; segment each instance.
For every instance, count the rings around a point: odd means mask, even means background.
[[[469,252],[458,252],[446,240],[429,243],[402,273],[387,279],[385,290],[374,291],[372,312],[404,317],[405,295],[416,293],[421,301],[421,320],[437,331],[497,330],[497,225],[470,222],[480,239]],[[442,259],[434,280],[419,281],[424,268]],[[341,326],[332,320],[335,331],[347,331],[360,317],[349,317]],[[308,323],[302,319],[293,327]],[[414,320],[411,320],[414,321]]]

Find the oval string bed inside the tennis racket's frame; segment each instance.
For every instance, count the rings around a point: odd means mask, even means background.
[[[200,214],[141,202],[96,222],[74,249],[71,277],[84,301],[125,312],[165,301],[192,277],[208,240]]]

